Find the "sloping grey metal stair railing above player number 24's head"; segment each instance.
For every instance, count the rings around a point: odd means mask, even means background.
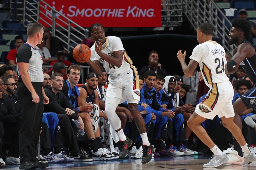
[[[187,0],[184,13],[195,30],[206,21],[211,23],[214,27],[213,35],[221,38],[226,52],[233,54],[234,45],[227,44],[230,28],[225,25],[231,26],[231,22],[213,0]]]

